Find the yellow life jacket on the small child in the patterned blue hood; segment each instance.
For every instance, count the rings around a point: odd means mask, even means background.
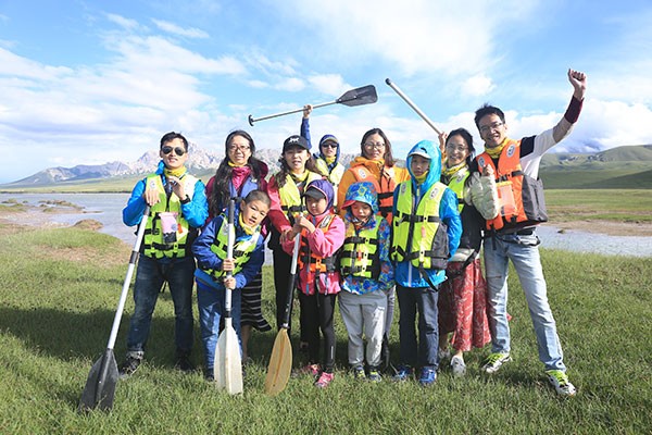
[[[355,225],[347,223],[344,245],[340,253],[340,274],[377,279],[380,276],[380,249],[378,249],[378,228],[383,217],[373,216],[373,228],[355,231]]]

